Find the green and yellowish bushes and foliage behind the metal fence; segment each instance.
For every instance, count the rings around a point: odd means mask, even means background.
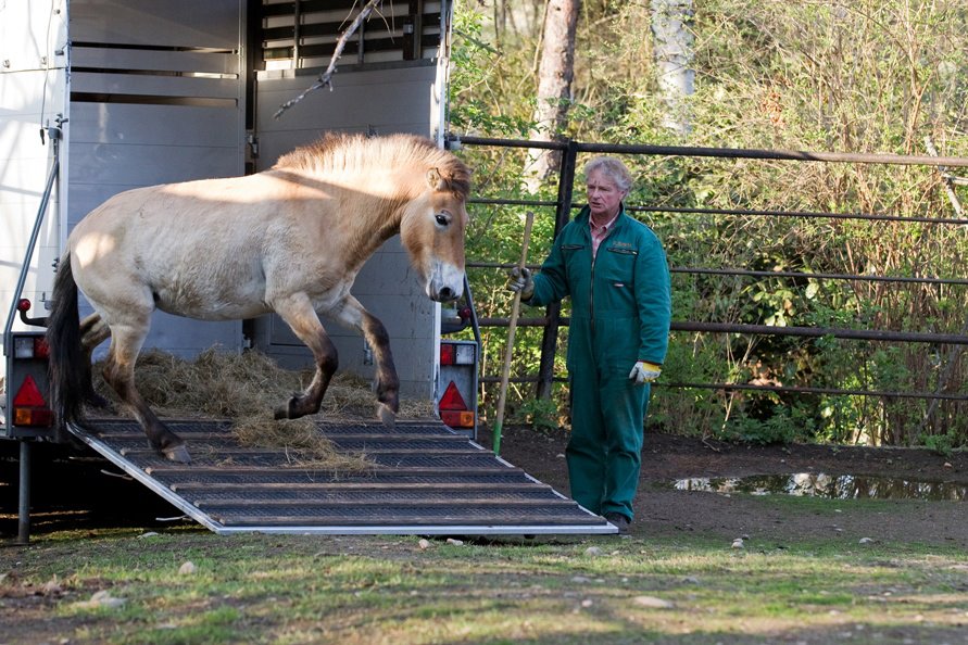
[[[495,25],[485,11],[483,5],[458,11],[463,36],[454,56],[452,127],[519,137],[533,125],[540,21],[520,21],[517,28],[511,21]],[[925,140],[931,138],[940,154],[968,156],[968,10],[963,2],[696,2],[691,25],[696,89],[686,139],[659,125],[652,50],[643,36],[649,22],[648,3],[583,5],[564,135],[596,142],[896,154],[925,154]],[[554,199],[553,182],[538,195],[525,190],[523,150],[462,154],[476,169],[478,197]],[[813,215],[955,217],[935,168],[668,155],[624,161],[636,177],[627,204],[645,206],[633,213],[663,240],[670,265],[709,269],[674,274],[674,320],[965,333],[964,286],[810,276],[966,275],[968,238],[961,227]],[[968,192],[955,190],[964,201]],[[581,200],[579,185],[575,201]],[[475,205],[469,256],[516,262],[526,210]],[[535,210],[529,257],[538,263],[551,244],[554,217],[552,208]],[[766,215],[776,212],[797,215]],[[713,273],[719,269],[804,276]],[[503,270],[474,269],[470,279],[479,315],[506,317],[511,299]],[[542,313],[523,311],[525,316]],[[485,333],[483,371],[495,374],[506,331]],[[537,328],[519,330],[513,374],[536,374],[539,343]],[[663,384],[794,385],[821,392],[661,385],[653,391],[650,422],[671,432],[760,443],[968,446],[968,396],[933,402],[902,396],[965,393],[963,354],[956,345],[929,343],[674,333]],[[556,375],[562,376],[558,363]],[[527,405],[519,406],[531,395],[529,389],[519,388],[515,395],[520,399],[510,401],[510,408],[530,414]],[[566,410],[564,387],[553,401]]]

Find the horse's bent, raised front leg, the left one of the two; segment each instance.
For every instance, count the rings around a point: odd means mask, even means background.
[[[313,309],[310,299],[304,294],[291,295],[281,302],[274,303],[274,308],[279,317],[289,325],[292,332],[313,353],[316,362],[316,374],[313,381],[302,394],[293,395],[275,410],[277,419],[298,419],[305,415],[314,415],[323,405],[323,397],[329,388],[329,381],[339,367],[339,356],[336,345],[329,340],[319,317]]]

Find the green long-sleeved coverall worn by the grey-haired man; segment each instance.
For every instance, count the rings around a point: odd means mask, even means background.
[[[623,205],[593,260],[586,206],[555,238],[533,280],[529,305],[571,296],[571,497],[592,513],[631,520],[650,385],[629,380],[629,370],[637,361],[665,361],[671,318],[665,251]]]

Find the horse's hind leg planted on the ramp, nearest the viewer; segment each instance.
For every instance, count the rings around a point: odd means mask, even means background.
[[[104,380],[130,406],[152,447],[173,461],[187,464],[191,458],[185,442],[159,420],[135,388],[135,362],[147,333],[147,324],[142,328],[118,325],[111,328],[111,349],[104,364]]]

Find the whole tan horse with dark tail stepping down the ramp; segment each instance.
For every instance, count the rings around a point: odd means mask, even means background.
[[[350,293],[364,262],[399,235],[431,300],[464,289],[465,203],[470,170],[412,135],[324,136],[244,177],[167,184],[118,193],[85,216],[58,262],[48,320],[53,409],[84,425],[91,355],[108,340],[103,376],[162,456],[190,463],[185,442],[135,387],[151,313],[201,320],[275,312],[312,351],[315,374],[277,419],[319,410],[338,368],[319,314],[357,330],[376,363],[377,409],[392,426],[400,381],[384,324]],[[93,313],[80,320],[78,290]]]

